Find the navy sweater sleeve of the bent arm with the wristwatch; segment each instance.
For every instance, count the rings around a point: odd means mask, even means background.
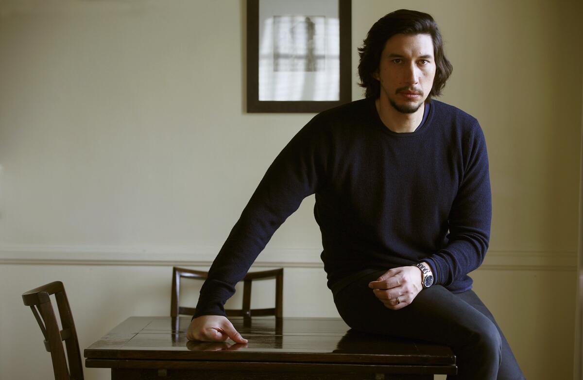
[[[486,139],[477,121],[462,143],[463,174],[449,212],[448,244],[427,258],[436,283],[448,286],[484,261],[492,214]]]

